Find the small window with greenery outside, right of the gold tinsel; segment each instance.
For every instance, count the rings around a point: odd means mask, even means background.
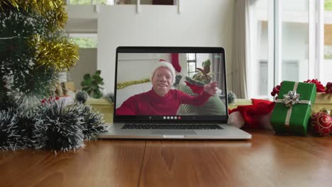
[[[96,34],[82,34],[82,33],[70,33],[70,39],[80,48],[96,48],[97,47],[97,35]]]

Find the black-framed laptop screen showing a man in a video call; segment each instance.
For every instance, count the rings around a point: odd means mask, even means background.
[[[222,47],[118,47],[114,122],[227,120]]]

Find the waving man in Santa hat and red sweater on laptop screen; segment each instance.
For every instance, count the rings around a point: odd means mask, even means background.
[[[176,88],[176,70],[170,62],[160,60],[154,65],[150,79],[152,89],[128,98],[116,108],[116,115],[177,115],[181,104],[203,106],[216,94],[216,81],[201,86],[197,96],[186,94]]]

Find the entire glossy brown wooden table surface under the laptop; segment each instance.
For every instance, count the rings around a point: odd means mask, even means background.
[[[331,186],[332,137],[97,140],[76,152],[0,151],[0,186]]]

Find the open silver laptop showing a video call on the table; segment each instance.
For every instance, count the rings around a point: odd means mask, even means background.
[[[117,47],[114,87],[99,138],[251,139],[227,125],[223,47]]]

